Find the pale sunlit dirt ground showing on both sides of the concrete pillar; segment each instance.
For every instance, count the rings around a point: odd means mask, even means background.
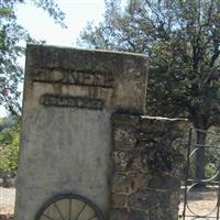
[[[206,189],[202,191],[194,190],[188,194],[188,208],[186,209],[186,215],[191,216],[194,215],[207,215],[211,213],[212,217],[216,217],[217,209],[217,191],[212,189]],[[182,195],[182,202],[179,206],[179,215],[183,213],[183,198]],[[10,220],[12,219],[12,215],[14,211],[14,199],[15,199],[15,189],[14,188],[2,188],[0,187],[0,220]],[[189,211],[191,210],[191,212]],[[182,218],[179,218],[182,219]],[[194,218],[185,218],[186,220],[190,220]],[[209,219],[209,218],[206,218]],[[215,218],[211,218],[212,220]]]

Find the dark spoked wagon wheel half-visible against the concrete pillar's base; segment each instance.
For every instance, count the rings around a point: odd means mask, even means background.
[[[48,200],[35,220],[103,220],[100,210],[79,195],[61,195]]]

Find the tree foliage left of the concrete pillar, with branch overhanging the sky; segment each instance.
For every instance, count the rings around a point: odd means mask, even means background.
[[[15,7],[28,0],[3,0],[0,2],[0,105],[13,114],[21,112],[19,102],[19,82],[23,79],[23,69],[18,58],[24,55],[21,42],[33,42],[28,31],[16,23]],[[64,13],[53,0],[31,0],[42,8],[56,23],[65,28]]]

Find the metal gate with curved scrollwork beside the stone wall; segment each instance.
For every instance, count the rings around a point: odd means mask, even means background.
[[[212,136],[212,140],[217,140],[217,142],[211,145],[197,144],[195,134],[198,132],[205,133],[207,139]],[[189,130],[179,220],[220,219],[220,162],[218,162],[220,161],[220,143],[218,139],[219,136],[212,132],[198,129]],[[201,151],[200,148],[205,152],[205,179],[198,179],[194,174],[195,156],[198,151]]]

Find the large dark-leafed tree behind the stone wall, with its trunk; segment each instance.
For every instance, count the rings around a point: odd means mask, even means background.
[[[197,145],[220,122],[220,1],[106,1],[105,21],[91,23],[79,45],[147,54],[150,114],[187,117]],[[205,177],[205,148],[196,154],[196,177]]]

